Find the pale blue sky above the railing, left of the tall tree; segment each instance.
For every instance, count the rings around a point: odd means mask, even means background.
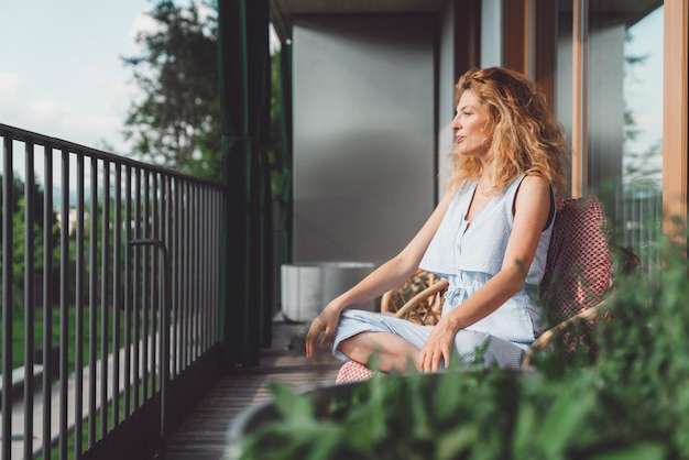
[[[0,123],[91,147],[129,151],[121,134],[140,95],[121,56],[141,48],[150,0],[2,0]]]

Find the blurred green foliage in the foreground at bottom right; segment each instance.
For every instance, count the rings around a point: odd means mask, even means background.
[[[324,409],[274,387],[242,459],[689,458],[686,260],[621,280],[590,365],[376,377]],[[320,413],[319,413],[320,412]]]

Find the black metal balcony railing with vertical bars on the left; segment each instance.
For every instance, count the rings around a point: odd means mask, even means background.
[[[218,373],[223,188],[0,138],[0,459],[142,457]]]

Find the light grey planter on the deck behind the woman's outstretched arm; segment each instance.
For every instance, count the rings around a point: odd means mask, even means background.
[[[371,273],[371,262],[300,262],[281,266],[281,310],[288,321],[309,321],[326,304]],[[373,311],[375,303],[357,308]]]

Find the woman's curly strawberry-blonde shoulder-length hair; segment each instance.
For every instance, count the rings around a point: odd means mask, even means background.
[[[488,108],[490,149],[486,160],[495,164],[495,190],[504,190],[528,169],[544,175],[556,191],[566,185],[564,158],[570,150],[545,96],[524,75],[502,67],[470,69],[457,83],[455,105],[470,90]],[[478,179],[479,158],[451,155],[450,189]]]

